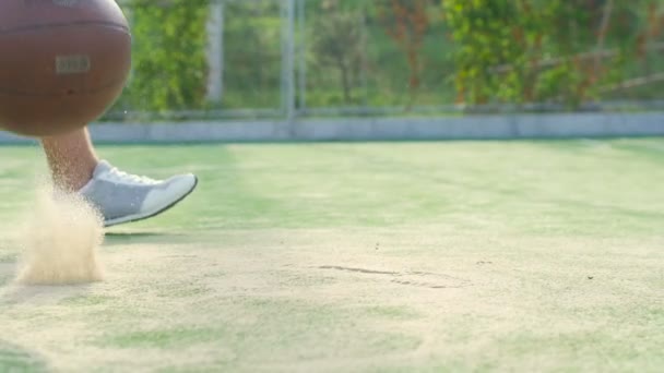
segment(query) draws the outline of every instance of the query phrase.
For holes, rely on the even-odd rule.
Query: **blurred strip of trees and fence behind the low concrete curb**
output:
[[[120,3],[133,72],[108,120],[278,117],[289,94],[298,116],[642,109],[664,98],[664,0]]]

